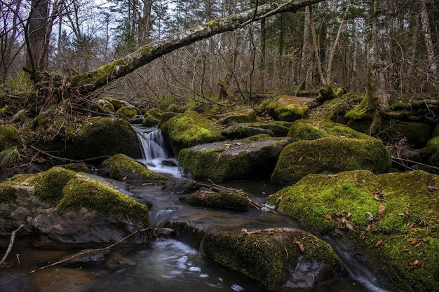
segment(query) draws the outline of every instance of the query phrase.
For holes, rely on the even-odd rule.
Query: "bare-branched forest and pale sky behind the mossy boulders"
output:
[[[265,2],[1,0],[0,84],[36,84],[41,72],[70,78]],[[381,99],[438,97],[437,1],[318,2],[174,50],[101,93],[156,106],[208,100],[226,85],[247,103],[325,84],[365,92],[369,78],[377,92],[386,92]]]

